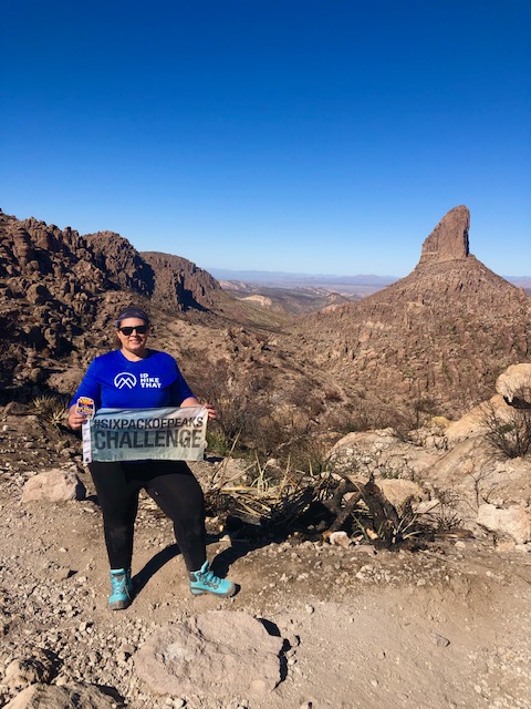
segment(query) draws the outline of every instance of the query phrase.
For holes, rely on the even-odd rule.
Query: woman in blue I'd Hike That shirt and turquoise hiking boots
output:
[[[118,315],[115,328],[121,348],[91,362],[71,401],[69,424],[72,429],[80,429],[85,421],[85,414],[77,412],[80,397],[93,399],[96,411],[201,405],[175,359],[147,347],[147,312],[134,306],[125,308]],[[145,386],[147,381],[148,387]],[[216,418],[215,409],[210,404],[205,407],[208,418]],[[218,578],[209,567],[202,491],[184,461],[92,462],[88,469],[103,512],[111,563],[110,608],[127,608],[133,599],[133,532],[142,489],[174,523],[175,536],[189,573],[190,592],[222,597],[236,593],[232,582]]]

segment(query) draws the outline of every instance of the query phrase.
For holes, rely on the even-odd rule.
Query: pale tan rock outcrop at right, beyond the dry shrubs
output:
[[[500,379],[510,380],[517,367],[510,367]],[[512,545],[528,544],[529,456],[508,458],[492,444],[492,411],[500,425],[509,428],[520,415],[498,394],[458,421],[430,419],[407,438],[394,429],[348,433],[331,449],[330,461],[343,475],[356,471],[354,476],[362,484],[374,476],[395,504],[403,503],[399,495],[405,493],[417,513],[427,512],[441,525],[452,521],[475,534],[487,530]],[[529,422],[527,432],[529,435]],[[421,496],[412,481],[423,490]]]

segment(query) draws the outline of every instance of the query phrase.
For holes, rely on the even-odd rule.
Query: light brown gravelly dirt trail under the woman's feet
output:
[[[489,540],[374,554],[212,537],[209,555],[241,592],[226,602],[194,598],[169,522],[146,506],[135,540],[138,595],[110,613],[97,505],[21,506],[27,475],[11,471],[0,482],[0,681],[13,658],[40,647],[59,658],[60,681],[114,687],[134,709],[531,707],[529,555],[497,551]],[[272,696],[168,699],[136,678],[132,658],[154,625],[227,607],[288,638],[285,678]],[[11,696],[0,688],[0,706]]]

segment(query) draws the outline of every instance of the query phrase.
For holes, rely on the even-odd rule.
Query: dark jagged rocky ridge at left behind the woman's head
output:
[[[0,212],[0,384],[45,386],[58,368],[87,361],[111,343],[122,305],[178,316],[207,310],[216,292],[217,281],[184,258],[142,255],[111,232],[81,236]]]

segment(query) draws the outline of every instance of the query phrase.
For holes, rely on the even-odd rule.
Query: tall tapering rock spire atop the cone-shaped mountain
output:
[[[469,255],[470,212],[464,205],[450,209],[423,244],[419,266],[464,260]]]

